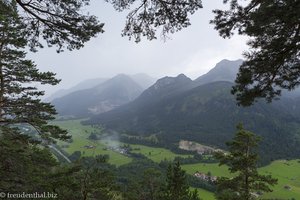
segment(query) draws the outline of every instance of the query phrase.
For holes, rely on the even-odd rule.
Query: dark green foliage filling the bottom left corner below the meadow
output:
[[[107,157],[83,158],[61,166],[47,148],[29,139],[18,129],[0,127],[2,192],[53,192],[62,200],[107,200],[119,195]]]

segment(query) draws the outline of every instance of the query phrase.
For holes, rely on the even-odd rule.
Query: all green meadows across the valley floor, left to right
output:
[[[91,140],[91,133],[104,134],[101,127],[92,127],[90,125],[82,125],[81,120],[64,120],[54,121],[53,124],[67,129],[72,135],[72,142],[58,142],[58,146],[70,156],[76,151],[81,152],[81,156],[96,156],[108,155],[109,163],[117,167],[126,165],[133,161],[133,158],[124,152],[120,152],[122,146],[129,145],[133,153],[139,153],[149,158],[150,160],[160,163],[161,161],[173,161],[175,157],[191,158],[192,154],[177,154],[162,147],[152,147],[141,144],[128,144],[117,141],[116,136],[106,138],[104,140]],[[200,145],[200,144],[199,144]],[[198,146],[198,145],[197,145]],[[227,167],[219,166],[218,163],[194,163],[182,164],[182,168],[190,175],[195,172],[211,173],[212,176],[232,176]],[[272,193],[265,194],[261,198],[279,198],[279,199],[300,199],[300,160],[277,160],[271,164],[259,168],[259,172],[267,175],[272,175],[278,179],[278,185],[272,188]],[[201,188],[199,195],[205,200],[214,200],[212,192]]]

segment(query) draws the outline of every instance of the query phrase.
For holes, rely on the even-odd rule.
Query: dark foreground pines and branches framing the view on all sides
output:
[[[108,1],[118,11],[138,5],[135,1]],[[292,90],[299,85],[300,77],[300,2],[226,0],[229,10],[215,10],[211,21],[222,37],[231,37],[233,31],[251,36],[250,51],[240,68],[236,94],[240,105],[251,105],[257,98],[271,101],[280,95],[280,89]],[[67,140],[65,130],[49,125],[56,114],[52,105],[44,103],[44,94],[32,83],[58,84],[52,72],[40,72],[33,61],[26,59],[26,47],[32,51],[56,46],[80,49],[84,43],[103,32],[104,24],[95,16],[82,14],[89,0],[3,0],[0,2],[0,189],[4,192],[53,191],[60,199],[126,199],[115,185],[113,175],[99,156],[83,158],[79,164],[60,165],[47,146],[55,140]],[[174,33],[190,25],[189,17],[202,8],[200,0],[146,0],[128,15],[123,35],[139,42],[142,36],[156,38],[162,27],[163,35]],[[30,124],[41,140],[22,134],[14,125]],[[220,178],[217,182],[217,199],[254,199],[255,192],[269,192],[276,180],[257,173],[257,154],[252,148],[257,138],[238,127],[229,153],[218,154],[234,178]],[[170,164],[166,171],[166,184],[156,190],[155,171],[147,171],[143,184],[148,184],[142,199],[199,199],[196,191],[190,192],[186,175],[180,164]],[[147,178],[148,177],[148,178]],[[143,185],[142,184],[142,185]],[[126,184],[123,185],[126,187]],[[128,191],[140,189],[127,188]],[[75,191],[75,192],[74,192]],[[129,193],[130,194],[130,193]],[[158,195],[159,197],[153,197]],[[130,199],[130,197],[128,197]]]

